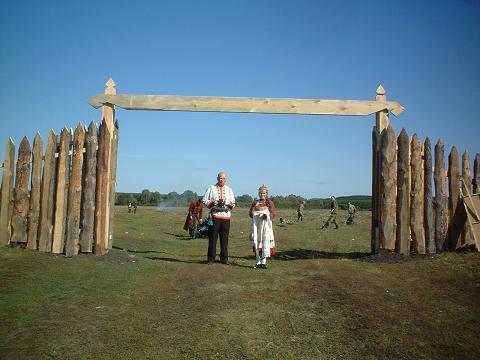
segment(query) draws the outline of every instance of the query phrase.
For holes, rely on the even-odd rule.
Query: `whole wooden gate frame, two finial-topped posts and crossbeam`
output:
[[[240,98],[214,96],[171,96],[171,95],[120,95],[116,93],[115,82],[109,79],[104,94],[95,95],[89,103],[95,108],[102,107],[106,130],[113,133],[115,107],[125,110],[150,111],[192,111],[192,112],[233,112],[264,114],[302,115],[343,115],[367,116],[375,114],[372,157],[372,245],[373,253],[379,249],[379,177],[380,177],[380,134],[389,125],[389,112],[400,115],[404,108],[398,102],[387,101],[385,89],[380,85],[375,101],[368,100],[322,100],[322,99],[275,99]],[[113,140],[113,139],[112,139]],[[108,144],[108,141],[107,141]],[[105,162],[101,194],[111,194],[115,188],[115,174],[110,171],[112,141],[110,146],[99,148],[99,159]],[[112,190],[110,189],[112,188]],[[111,196],[105,195],[96,203],[96,242],[110,244],[112,241]],[[108,248],[103,245],[102,248]]]

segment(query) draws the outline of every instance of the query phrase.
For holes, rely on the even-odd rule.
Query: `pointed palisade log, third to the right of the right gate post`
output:
[[[416,254],[425,254],[425,236],[423,222],[423,164],[422,145],[417,134],[414,134],[410,143],[410,232],[412,236],[412,251]]]

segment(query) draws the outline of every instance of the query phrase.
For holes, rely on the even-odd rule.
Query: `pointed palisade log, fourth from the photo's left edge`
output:
[[[40,225],[38,228],[38,250],[52,251],[53,215],[55,209],[55,183],[57,136],[50,130],[48,134],[45,160],[43,162],[42,191],[40,196]]]

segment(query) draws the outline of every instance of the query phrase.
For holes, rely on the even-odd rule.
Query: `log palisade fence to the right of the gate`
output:
[[[416,134],[409,138],[405,129],[396,137],[390,124],[381,133],[374,127],[373,150],[373,172],[379,174],[372,185],[378,189],[373,192],[372,224],[378,228],[377,238],[372,228],[373,252],[381,248],[403,255],[434,254],[475,245],[461,194],[480,192],[480,154],[475,156],[473,178],[468,152],[460,169],[456,147],[446,170],[441,140],[432,156],[428,138],[423,143]]]

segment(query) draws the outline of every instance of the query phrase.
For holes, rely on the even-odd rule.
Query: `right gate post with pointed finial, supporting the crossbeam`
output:
[[[385,89],[382,85],[379,85],[376,91],[375,100],[378,102],[387,102],[387,96],[385,95]],[[388,110],[382,110],[375,113],[375,130],[373,143],[375,147],[372,156],[372,231],[371,231],[371,251],[377,253],[380,242],[379,234],[379,222],[381,214],[381,202],[380,202],[380,179],[381,179],[381,159],[380,159],[380,146],[381,146],[381,134],[384,129],[390,125],[388,118]]]

